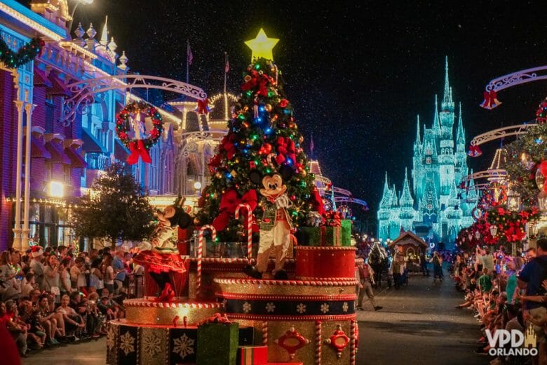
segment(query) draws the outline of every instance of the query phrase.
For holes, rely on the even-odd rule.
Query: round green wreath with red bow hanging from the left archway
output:
[[[136,113],[143,113],[145,118],[152,120],[152,128],[148,131],[148,137],[144,139],[130,138],[131,121]],[[130,165],[136,164],[139,157],[147,164],[151,163],[148,150],[154,146],[163,132],[163,121],[156,107],[147,102],[131,102],[116,115],[116,134],[123,145],[128,147],[131,154],[127,159]]]

